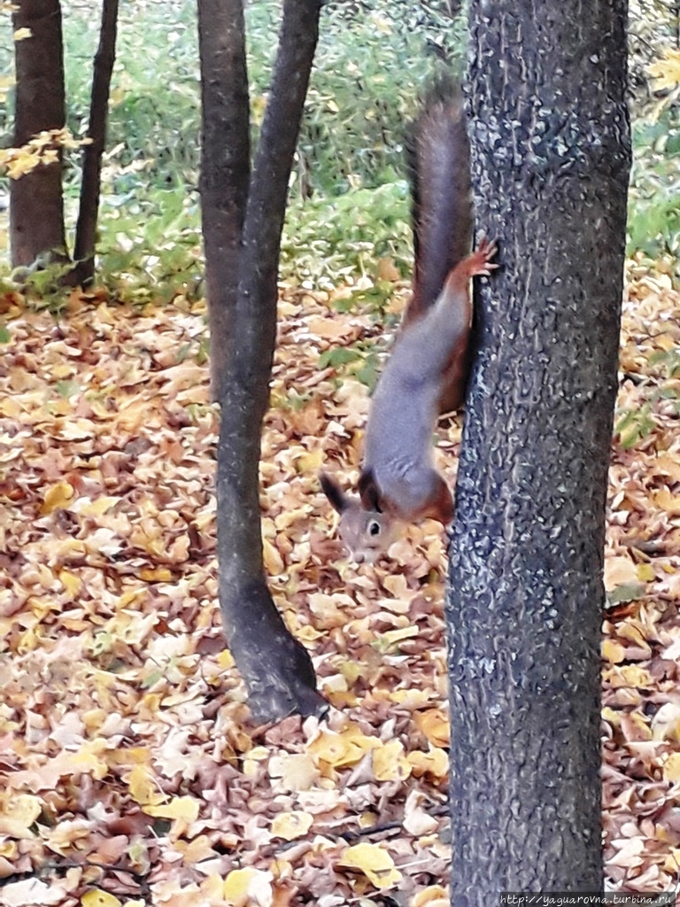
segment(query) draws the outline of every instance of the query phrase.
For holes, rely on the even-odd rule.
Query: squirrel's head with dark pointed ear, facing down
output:
[[[340,514],[340,538],[357,563],[373,563],[394,540],[394,519],[379,510],[377,495],[362,490],[362,500],[345,494],[326,473],[319,473],[321,488],[331,506]],[[361,488],[361,483],[360,483]]]

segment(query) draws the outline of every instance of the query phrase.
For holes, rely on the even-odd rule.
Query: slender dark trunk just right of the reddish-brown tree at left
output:
[[[70,275],[70,282],[83,286],[92,283],[94,278],[100,176],[109,113],[109,91],[116,54],[117,24],[118,0],[103,0],[102,27],[99,33],[99,47],[94,57],[90,126],[87,133],[92,143],[83,146],[83,180],[73,249],[73,258],[77,264]]]

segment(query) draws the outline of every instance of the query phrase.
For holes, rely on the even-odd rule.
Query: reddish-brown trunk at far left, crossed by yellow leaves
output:
[[[31,36],[15,43],[15,147],[37,132],[63,129],[62,11],[59,0],[18,0],[12,16],[15,30]],[[12,267],[31,265],[43,253],[56,250],[65,258],[62,164],[39,166],[10,180],[10,249]]]

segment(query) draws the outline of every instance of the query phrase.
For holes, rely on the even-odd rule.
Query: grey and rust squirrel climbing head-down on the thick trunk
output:
[[[489,276],[496,245],[471,234],[470,151],[460,93],[439,86],[411,149],[415,267],[403,326],[375,387],[359,500],[319,474],[355,561],[372,562],[400,522],[452,521],[452,494],[432,460],[439,414],[458,409],[470,368],[470,278]]]

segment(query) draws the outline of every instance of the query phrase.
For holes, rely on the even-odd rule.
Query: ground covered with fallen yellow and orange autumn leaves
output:
[[[680,867],[680,298],[645,272],[629,296],[607,874],[663,890]],[[355,477],[364,343],[384,346],[371,311],[300,289],[280,303],[267,571],[336,708],[256,728],[220,635],[203,307],[0,307],[0,903],[445,907],[440,532],[412,528],[389,564],[356,568],[316,481],[322,463]],[[452,481],[460,428],[440,434]]]

